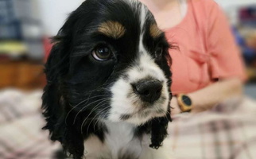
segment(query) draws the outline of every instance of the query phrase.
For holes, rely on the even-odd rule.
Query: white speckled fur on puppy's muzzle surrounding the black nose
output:
[[[126,70],[125,74],[128,76],[128,81],[120,77],[117,82],[111,87],[112,99],[111,99],[111,110],[108,119],[112,122],[119,122],[122,114],[134,114],[132,118],[127,122],[141,125],[147,122],[150,118],[164,116],[169,107],[169,93],[167,80],[161,68],[155,64],[152,57],[142,52],[138,59],[134,62],[133,66]],[[134,93],[131,83],[136,83],[138,80],[146,79],[147,77],[160,80],[163,83],[161,91],[161,98],[164,98],[163,103],[153,104],[147,111],[148,116],[142,118],[141,114],[136,114],[142,106],[141,99]],[[130,96],[129,96],[130,95]],[[165,111],[161,114],[157,114],[156,110]],[[143,113],[143,112],[142,112]]]

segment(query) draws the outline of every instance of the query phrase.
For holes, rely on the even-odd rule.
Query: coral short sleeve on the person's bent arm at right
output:
[[[212,79],[239,77],[246,80],[245,67],[241,53],[235,44],[231,26],[220,7],[208,0],[207,48],[210,54],[210,72]]]

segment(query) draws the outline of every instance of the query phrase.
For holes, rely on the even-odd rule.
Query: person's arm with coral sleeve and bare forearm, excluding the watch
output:
[[[210,109],[215,104],[242,95],[242,83],[246,74],[239,49],[231,34],[227,18],[214,1],[205,1],[209,12],[207,28],[207,51],[210,55],[209,74],[212,80],[219,79],[203,89],[188,93],[192,101],[192,112]],[[176,97],[171,101],[172,114],[180,113]]]

